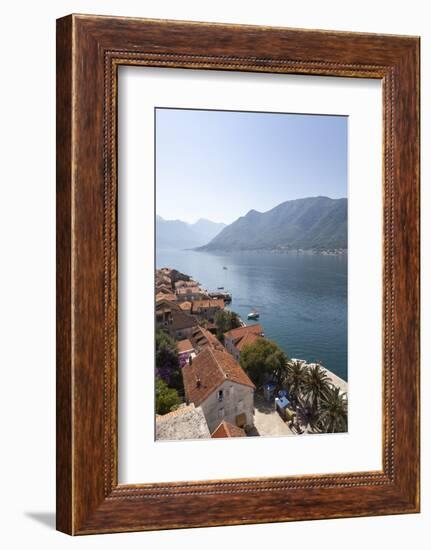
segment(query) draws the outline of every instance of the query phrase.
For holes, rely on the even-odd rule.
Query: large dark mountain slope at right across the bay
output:
[[[250,210],[199,250],[347,248],[347,199],[308,197]]]

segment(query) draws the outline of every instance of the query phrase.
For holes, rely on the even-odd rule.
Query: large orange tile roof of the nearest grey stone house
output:
[[[186,398],[195,406],[205,401],[226,380],[255,389],[253,382],[229,353],[211,346],[206,346],[181,372]]]

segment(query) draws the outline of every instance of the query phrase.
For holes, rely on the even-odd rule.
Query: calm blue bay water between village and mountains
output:
[[[347,380],[347,255],[159,249],[156,266],[178,269],[209,291],[224,287],[229,308],[247,324],[256,309],[265,336],[289,357],[319,360]]]

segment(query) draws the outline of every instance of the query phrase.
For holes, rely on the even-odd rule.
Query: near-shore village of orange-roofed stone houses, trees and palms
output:
[[[156,440],[346,432],[347,382],[288,357],[231,301],[225,289],[156,270]]]

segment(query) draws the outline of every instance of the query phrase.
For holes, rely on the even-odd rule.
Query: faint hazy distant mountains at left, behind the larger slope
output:
[[[156,216],[156,246],[160,249],[196,248],[210,242],[224,227],[224,223],[203,218],[190,224]]]

